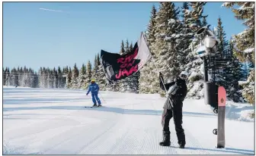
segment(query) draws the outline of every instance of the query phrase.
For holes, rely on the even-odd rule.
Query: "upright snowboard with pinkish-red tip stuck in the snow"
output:
[[[226,90],[223,86],[218,88],[218,129],[217,148],[225,148],[225,111],[226,111]]]

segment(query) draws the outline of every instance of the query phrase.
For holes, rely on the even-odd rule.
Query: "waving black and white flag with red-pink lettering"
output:
[[[133,51],[126,55],[110,53],[101,50],[101,64],[109,83],[125,79],[139,71],[151,58],[149,47],[143,33],[133,47]]]

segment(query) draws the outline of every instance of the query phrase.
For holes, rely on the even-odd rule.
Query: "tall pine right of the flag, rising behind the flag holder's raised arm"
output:
[[[178,20],[178,9],[175,9],[173,2],[161,2],[160,8],[156,17],[156,33],[154,48],[158,53],[155,54],[155,63],[163,73],[165,80],[174,78],[180,72],[179,50],[181,48],[181,29],[182,24]],[[155,73],[155,83],[153,90],[162,92],[159,89],[157,73]],[[154,92],[154,91],[153,91]]]

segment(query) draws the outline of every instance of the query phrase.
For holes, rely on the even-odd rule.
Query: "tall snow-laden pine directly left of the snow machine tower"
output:
[[[203,17],[203,6],[206,5],[206,2],[189,2],[189,6],[191,7],[191,11],[184,11],[187,16],[187,21],[184,21],[184,29],[183,34],[187,34],[184,38],[187,44],[184,48],[184,55],[187,56],[185,58],[184,63],[186,65],[185,69],[188,76],[187,82],[187,97],[188,98],[201,98],[203,97],[203,60],[201,58],[197,58],[190,51],[190,43],[192,39],[201,27],[203,27],[203,23],[201,22]],[[197,42],[199,43],[199,42]],[[188,46],[187,46],[188,45]]]

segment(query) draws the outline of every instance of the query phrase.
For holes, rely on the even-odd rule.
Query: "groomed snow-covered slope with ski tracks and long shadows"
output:
[[[254,154],[253,107],[228,101],[226,148],[218,149],[217,116],[203,100],[184,101],[187,145],[178,148],[173,120],[171,147],[162,147],[165,98],[101,92],[102,108],[91,106],[86,91],[3,89],[3,154]],[[104,98],[104,99],[103,99]]]

